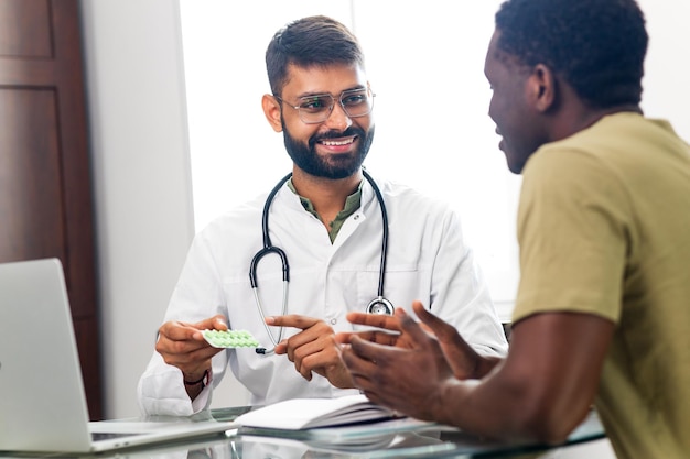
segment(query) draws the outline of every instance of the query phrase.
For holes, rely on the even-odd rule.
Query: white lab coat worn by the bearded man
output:
[[[412,300],[453,324],[483,354],[504,354],[507,342],[487,286],[464,244],[460,220],[450,207],[399,184],[379,185],[389,220],[385,297],[408,312]],[[198,321],[216,314],[231,329],[249,330],[272,348],[249,283],[249,264],[262,248],[261,214],[266,196],[214,220],[194,239],[164,320]],[[323,223],[305,211],[283,186],[269,214],[270,238],[290,263],[288,314],[325,320],[338,331],[352,330],[349,310],[364,310],[377,296],[382,219],[371,186],[365,181],[362,206],[347,218],[331,243]],[[266,315],[280,315],[281,264],[268,255],[258,269],[259,295]],[[274,328],[277,336],[279,329]],[[297,329],[284,329],[284,336]],[[227,370],[251,393],[251,404],[292,397],[331,397],[351,391],[333,387],[314,374],[304,380],[287,356],[258,356],[254,349],[219,352],[212,362],[211,386]],[[211,387],[192,404],[180,370],[153,357],[138,386],[144,414],[191,415],[211,403]]]

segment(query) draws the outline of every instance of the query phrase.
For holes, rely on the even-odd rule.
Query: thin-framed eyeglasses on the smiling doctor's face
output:
[[[369,88],[348,89],[341,92],[338,103],[349,118],[364,117],[371,112],[375,96]],[[297,106],[288,103],[279,96],[273,97],[284,102],[288,107],[295,109],[305,124],[324,122],[331,116],[333,107],[335,107],[335,99],[330,94],[300,97]]]

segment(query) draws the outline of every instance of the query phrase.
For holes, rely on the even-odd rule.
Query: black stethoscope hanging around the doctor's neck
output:
[[[392,303],[384,297],[384,281],[386,278],[386,255],[388,253],[388,212],[386,211],[386,204],[384,203],[384,196],[381,195],[381,190],[378,188],[374,178],[365,171],[362,170],[362,174],[369,182],[371,188],[374,188],[374,193],[376,194],[376,199],[378,200],[379,207],[381,208],[381,217],[384,220],[384,234],[381,237],[381,262],[378,274],[378,295],[376,298],[371,299],[366,307],[366,312],[369,314],[381,314],[391,316],[395,312],[395,307]],[[276,187],[269,193],[266,198],[266,204],[263,205],[263,215],[261,217],[261,231],[263,236],[263,248],[254,255],[251,259],[251,264],[249,265],[249,282],[251,283],[251,289],[254,292],[254,299],[257,304],[257,309],[261,315],[261,321],[263,323],[263,327],[266,327],[266,332],[270,337],[271,342],[273,343],[273,349],[266,348],[257,348],[256,352],[260,354],[271,354],[273,353],[276,346],[282,340],[282,334],[284,327],[280,327],[280,331],[278,332],[278,339],[273,337],[269,326],[266,324],[266,315],[263,314],[263,307],[261,306],[261,298],[259,298],[259,284],[257,283],[257,265],[259,261],[270,254],[274,253],[280,256],[280,261],[282,263],[282,315],[284,316],[288,313],[288,285],[290,283],[290,264],[288,263],[288,255],[285,252],[271,243],[271,238],[268,233],[268,214],[271,208],[271,204],[273,203],[273,198],[276,194],[282,188],[285,182],[288,182],[292,177],[292,173],[285,175]]]

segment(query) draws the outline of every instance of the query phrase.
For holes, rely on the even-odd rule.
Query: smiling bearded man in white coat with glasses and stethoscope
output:
[[[365,310],[381,284],[392,305],[419,299],[477,352],[504,354],[503,328],[455,212],[363,178],[375,92],[356,37],[328,18],[304,18],[273,36],[266,62],[272,94],[262,107],[283,133],[292,176],[270,199],[228,211],[194,239],[139,382],[142,412],[200,412],[228,370],[252,404],[356,393],[334,337],[353,330],[346,314]],[[284,251],[290,282],[285,291],[280,259],[266,256],[256,269],[257,302],[248,272],[265,245],[265,207],[266,233]],[[207,328],[248,330],[274,352],[212,348],[200,331]]]

